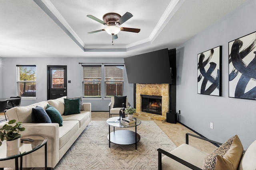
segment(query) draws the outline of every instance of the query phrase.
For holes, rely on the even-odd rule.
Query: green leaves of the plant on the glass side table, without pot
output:
[[[21,127],[21,122],[17,122],[16,125],[12,125],[16,120],[10,120],[8,124],[5,124],[2,128],[0,128],[0,146],[2,145],[2,141],[14,141],[21,137],[19,134],[20,131],[24,131],[25,127]]]

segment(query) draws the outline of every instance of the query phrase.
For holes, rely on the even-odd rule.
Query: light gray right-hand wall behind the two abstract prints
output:
[[[256,101],[228,97],[228,42],[256,31],[256,1],[225,16],[177,48],[180,122],[205,137],[225,142],[238,135],[244,149],[256,140]],[[197,94],[197,55],[222,45],[222,96]],[[210,129],[210,122],[214,129]]]

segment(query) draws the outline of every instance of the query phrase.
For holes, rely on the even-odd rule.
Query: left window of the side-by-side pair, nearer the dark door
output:
[[[101,97],[101,65],[82,65],[83,96]]]

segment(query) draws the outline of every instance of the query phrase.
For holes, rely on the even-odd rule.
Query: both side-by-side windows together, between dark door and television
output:
[[[124,65],[82,65],[84,98],[122,96],[123,91]]]

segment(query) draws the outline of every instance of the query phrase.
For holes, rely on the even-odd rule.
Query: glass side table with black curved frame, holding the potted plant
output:
[[[20,169],[22,169],[22,156],[26,154],[30,154],[41,147],[44,146],[44,162],[45,162],[45,170],[47,169],[47,137],[43,136],[22,136],[21,139],[30,138],[33,139],[33,142],[22,141],[20,140],[20,147],[14,150],[6,149],[6,141],[2,142],[2,146],[0,147],[0,161],[2,160],[10,160],[15,159],[15,170],[18,170],[18,158],[20,157]],[[8,167],[4,167],[8,168]],[[3,168],[0,168],[3,170]]]

